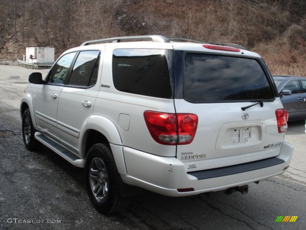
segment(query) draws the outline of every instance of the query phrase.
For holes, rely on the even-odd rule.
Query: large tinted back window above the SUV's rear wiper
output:
[[[192,103],[274,98],[258,61],[229,56],[187,53],[184,89],[185,100]]]

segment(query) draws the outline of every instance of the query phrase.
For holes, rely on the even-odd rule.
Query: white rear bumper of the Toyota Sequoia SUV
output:
[[[187,173],[184,164],[177,158],[160,157],[127,147],[123,151],[127,175],[121,175],[121,178],[125,183],[162,195],[180,197],[225,190],[282,174],[292,159],[293,145],[285,141],[282,143],[274,165],[267,164],[268,167],[252,171],[238,170],[235,174],[223,172],[221,176],[203,179],[194,173]],[[177,189],[181,188],[193,188],[194,191],[178,192]]]

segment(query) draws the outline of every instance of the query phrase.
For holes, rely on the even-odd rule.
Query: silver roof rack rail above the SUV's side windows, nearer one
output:
[[[86,41],[80,46],[89,45],[92,43],[101,43],[101,42],[121,42],[121,40],[152,40],[153,42],[170,42],[168,38],[162,35],[143,35],[143,36],[125,36],[125,37],[111,37],[105,39],[91,40]]]

